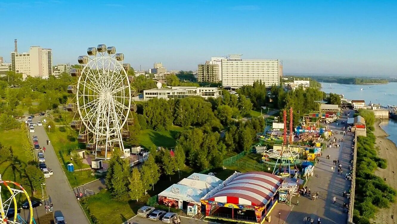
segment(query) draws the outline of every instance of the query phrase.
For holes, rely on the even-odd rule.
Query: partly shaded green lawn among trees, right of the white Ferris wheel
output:
[[[156,146],[162,146],[166,148],[175,147],[176,136],[181,131],[183,131],[183,128],[178,126],[172,126],[166,131],[145,129],[138,137],[138,142],[141,146],[145,146],[145,148],[156,148]]]

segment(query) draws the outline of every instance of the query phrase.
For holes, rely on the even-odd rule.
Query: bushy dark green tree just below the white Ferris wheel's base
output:
[[[114,150],[109,160],[105,183],[111,194],[117,199],[124,200],[128,195],[129,187],[129,164],[120,158],[120,152]]]

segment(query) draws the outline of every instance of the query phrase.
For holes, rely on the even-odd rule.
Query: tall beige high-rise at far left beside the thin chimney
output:
[[[52,75],[52,50],[32,46],[29,53],[11,52],[12,71],[22,73],[24,77],[48,78]]]

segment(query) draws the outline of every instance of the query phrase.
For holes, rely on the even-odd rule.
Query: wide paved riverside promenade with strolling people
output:
[[[349,111],[350,117],[353,117],[354,111]],[[343,114],[344,115],[344,114]],[[341,121],[346,121],[347,117],[342,117],[338,120],[339,125],[332,123],[330,129],[333,131],[341,131]],[[334,134],[332,137],[337,139],[342,138],[344,142],[339,143],[340,148],[328,148],[323,152],[320,158],[320,164],[316,164],[314,169],[314,176],[310,177],[307,187],[312,193],[319,192],[319,197],[316,201],[312,201],[308,197],[294,197],[291,213],[289,214],[285,224],[302,224],[304,216],[314,218],[314,223],[317,223],[317,218],[321,218],[322,224],[342,224],[346,223],[347,213],[343,211],[343,202],[348,203],[347,198],[343,198],[343,191],[348,191],[351,181],[345,180],[345,173],[349,169],[351,160],[351,146],[353,144],[353,135],[349,132],[345,136],[341,134]],[[326,155],[330,155],[329,160]],[[343,175],[338,175],[337,166],[333,165],[333,160],[339,159],[342,164]],[[331,171],[333,166],[333,171]],[[333,204],[332,199],[336,197],[336,204]],[[296,200],[299,200],[299,205],[296,205]]]

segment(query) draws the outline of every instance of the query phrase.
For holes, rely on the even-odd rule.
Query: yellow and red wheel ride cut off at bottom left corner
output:
[[[9,193],[2,193],[0,195],[0,224],[35,224],[32,203],[25,189],[14,181],[2,180],[0,175],[0,192],[3,190],[3,187]],[[29,203],[29,214],[26,220],[19,216],[19,209],[17,207],[17,199],[20,200],[23,197]]]

